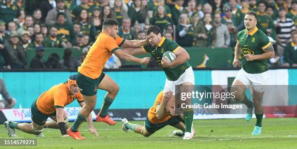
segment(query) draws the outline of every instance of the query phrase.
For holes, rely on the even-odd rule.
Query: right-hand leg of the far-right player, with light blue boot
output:
[[[258,135],[262,132],[262,118],[264,115],[264,108],[262,106],[262,98],[263,98],[264,92],[257,92],[253,90],[253,101],[255,106],[255,115],[257,118],[257,122],[254,128],[254,131],[252,132],[252,135]]]

